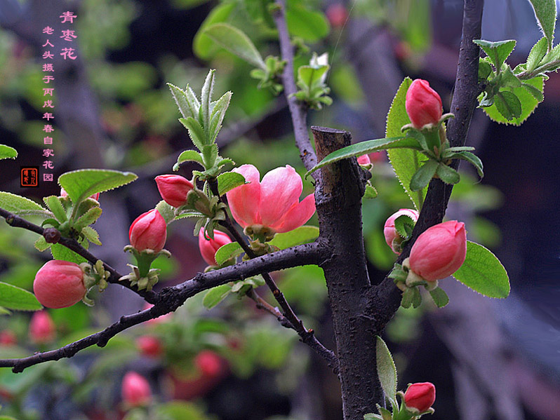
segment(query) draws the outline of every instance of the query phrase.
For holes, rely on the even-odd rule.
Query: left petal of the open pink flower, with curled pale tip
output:
[[[242,227],[260,223],[259,202],[260,202],[260,174],[253,165],[241,165],[233,172],[240,173],[245,177],[246,182],[251,184],[240,185],[228,191],[227,203],[229,210],[237,223]]]

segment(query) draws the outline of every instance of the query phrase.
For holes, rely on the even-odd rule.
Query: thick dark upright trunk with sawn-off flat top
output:
[[[317,157],[350,144],[350,134],[312,127]],[[361,197],[366,172],[356,159],[346,159],[321,170],[315,196],[321,238],[331,257],[321,265],[333,311],[338,349],[342,409],[345,420],[362,420],[380,400],[375,369],[375,332],[366,315],[371,288],[361,231]]]

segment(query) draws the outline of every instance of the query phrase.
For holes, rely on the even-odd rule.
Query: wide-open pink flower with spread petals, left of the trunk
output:
[[[313,194],[299,201],[302,180],[290,165],[267,172],[262,182],[259,182],[259,171],[253,165],[242,165],[234,172],[251,182],[226,194],[234,219],[244,228],[256,224],[277,233],[293,231],[315,212]]]

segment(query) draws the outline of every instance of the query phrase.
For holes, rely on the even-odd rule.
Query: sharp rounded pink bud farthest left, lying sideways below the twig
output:
[[[86,294],[84,272],[75,262],[52,259],[37,271],[33,292],[47,308],[72,306]]]

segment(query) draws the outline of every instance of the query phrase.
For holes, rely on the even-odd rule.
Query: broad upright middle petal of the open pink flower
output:
[[[290,165],[276,168],[262,177],[260,183],[260,220],[265,226],[279,223],[286,212],[297,204],[303,184]]]

